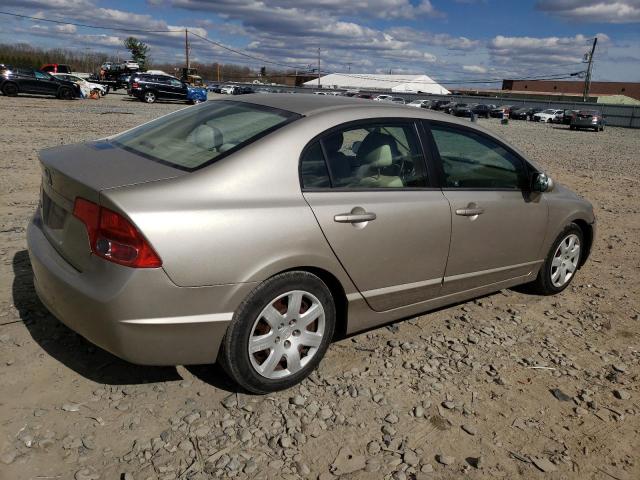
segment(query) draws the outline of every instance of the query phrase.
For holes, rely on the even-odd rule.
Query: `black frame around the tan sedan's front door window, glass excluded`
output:
[[[438,179],[438,185],[439,188],[442,191],[478,191],[478,192],[525,192],[525,193],[529,193],[531,192],[531,182],[532,179],[534,177],[534,175],[536,173],[539,173],[529,162],[527,162],[527,160],[522,157],[522,155],[518,154],[515,150],[513,150],[512,147],[510,147],[509,145],[507,145],[506,143],[504,143],[502,140],[500,140],[499,138],[494,137],[493,135],[488,135],[483,131],[477,130],[475,128],[471,128],[471,127],[466,127],[464,125],[459,125],[457,123],[449,123],[449,122],[443,122],[443,121],[439,121],[439,120],[423,120],[422,121],[423,124],[423,128],[425,130],[425,136],[427,139],[427,142],[429,144],[429,149],[431,150],[431,156],[430,158],[433,159],[433,169],[436,172],[436,178]],[[487,137],[489,140],[491,140],[492,142],[494,142],[495,144],[499,145],[500,147],[504,148],[507,152],[509,152],[510,154],[512,154],[515,158],[517,158],[520,161],[520,165],[522,166],[522,169],[524,171],[524,177],[525,177],[525,184],[520,186],[520,187],[516,187],[516,188],[497,188],[497,187],[447,187],[445,186],[445,178],[444,178],[444,169],[442,167],[442,159],[440,158],[440,151],[438,150],[438,146],[436,144],[435,138],[433,137],[433,133],[431,132],[431,126],[442,126],[444,128],[448,128],[451,130],[457,130],[459,132],[463,132],[463,133],[472,133],[475,135],[484,135],[485,137]]]

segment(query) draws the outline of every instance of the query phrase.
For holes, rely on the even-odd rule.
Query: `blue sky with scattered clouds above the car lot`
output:
[[[568,76],[640,81],[640,0],[2,0],[0,11],[62,22],[176,33],[123,32],[0,14],[0,43],[127,54],[134,35],[159,63],[191,57],[259,69],[427,74],[446,85]],[[0,52],[0,62],[2,53]],[[273,63],[266,63],[266,61]],[[576,77],[573,77],[576,78]],[[487,83],[483,83],[487,82]]]

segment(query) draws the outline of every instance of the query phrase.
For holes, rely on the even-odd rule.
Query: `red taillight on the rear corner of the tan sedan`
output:
[[[87,228],[91,251],[95,255],[127,267],[162,266],[162,260],[147,239],[119,213],[76,198],[73,215]]]

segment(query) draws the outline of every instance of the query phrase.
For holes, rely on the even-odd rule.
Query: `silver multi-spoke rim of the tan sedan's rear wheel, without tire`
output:
[[[322,303],[309,292],[293,290],[273,299],[251,329],[252,367],[269,379],[299,372],[318,352],[325,323]]]

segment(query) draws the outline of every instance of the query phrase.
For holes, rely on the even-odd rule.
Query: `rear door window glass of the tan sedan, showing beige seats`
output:
[[[427,185],[424,158],[412,123],[371,123],[346,127],[323,136],[319,145],[326,174],[333,188],[410,188]],[[307,152],[312,149],[307,149]],[[312,183],[303,155],[304,188],[323,188]]]

